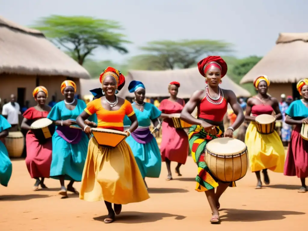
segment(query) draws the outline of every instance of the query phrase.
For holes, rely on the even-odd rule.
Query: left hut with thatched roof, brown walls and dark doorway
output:
[[[71,79],[80,94],[79,79],[89,79],[89,73],[74,59],[48,41],[38,30],[20,26],[0,17],[0,98],[9,101],[17,96],[22,106],[26,100],[35,104],[32,91],[43,85],[51,96],[62,100],[60,85]]]

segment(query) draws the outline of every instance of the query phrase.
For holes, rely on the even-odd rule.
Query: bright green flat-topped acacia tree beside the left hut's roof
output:
[[[123,46],[130,43],[118,22],[85,16],[51,15],[36,22],[40,30],[57,46],[63,47],[80,65],[85,58],[98,48],[113,48],[120,53],[128,53]]]

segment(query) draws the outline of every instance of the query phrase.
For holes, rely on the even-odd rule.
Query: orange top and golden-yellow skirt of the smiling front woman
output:
[[[98,128],[123,131],[124,116],[135,113],[132,105],[125,100],[119,110],[108,111],[101,106],[100,100],[89,102],[85,111],[89,115],[96,113]],[[115,148],[105,148],[94,137],[90,139],[79,198],[121,205],[149,198],[132,150],[125,140]]]

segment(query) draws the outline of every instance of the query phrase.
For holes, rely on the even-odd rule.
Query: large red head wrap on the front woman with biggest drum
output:
[[[208,56],[198,63],[199,72],[204,77],[206,71],[208,71],[211,67],[217,67],[219,70],[221,70],[221,78],[227,74],[227,63],[220,56]]]

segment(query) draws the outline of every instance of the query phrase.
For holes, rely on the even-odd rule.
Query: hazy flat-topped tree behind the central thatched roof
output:
[[[153,41],[140,47],[146,55],[139,55],[135,60],[142,60],[142,68],[166,70],[189,68],[207,55],[221,55],[231,50],[232,44],[215,40],[164,40]]]

